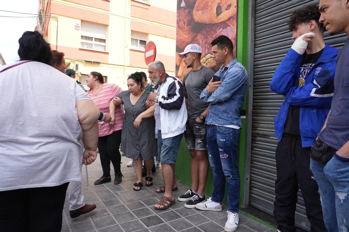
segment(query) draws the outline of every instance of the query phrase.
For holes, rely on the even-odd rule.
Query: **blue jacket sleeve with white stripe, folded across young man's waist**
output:
[[[335,69],[336,59],[327,66],[327,69],[322,70],[312,83],[302,87],[291,87],[285,95],[286,100],[291,105],[331,108]]]

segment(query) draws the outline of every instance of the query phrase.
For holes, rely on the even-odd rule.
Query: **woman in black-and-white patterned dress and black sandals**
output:
[[[141,85],[142,76],[133,73],[127,79],[128,90],[122,91],[113,99],[114,104],[123,104],[125,109],[121,132],[121,151],[127,158],[133,159],[133,167],[137,175],[137,182],[133,186],[135,191],[139,191],[143,186],[142,160],[148,170],[146,185],[153,184],[151,168],[154,157],[157,155],[155,106],[147,109],[145,103],[150,93],[141,88]]]

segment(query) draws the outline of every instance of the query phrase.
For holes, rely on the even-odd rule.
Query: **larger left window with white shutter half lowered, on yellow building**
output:
[[[106,51],[107,26],[81,21],[81,48]]]

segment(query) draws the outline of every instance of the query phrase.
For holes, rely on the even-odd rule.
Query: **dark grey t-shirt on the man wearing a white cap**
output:
[[[206,110],[208,103],[200,100],[200,94],[215,74],[208,67],[188,72],[183,78],[183,86],[188,94],[188,118],[197,118]]]

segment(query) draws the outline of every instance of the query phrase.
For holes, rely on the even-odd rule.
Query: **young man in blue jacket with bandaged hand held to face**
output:
[[[270,89],[285,102],[275,118],[274,216],[278,231],[295,232],[298,185],[302,190],[311,232],[327,231],[318,185],[310,170],[310,152],[330,110],[338,50],[325,44],[324,25],[316,6],[294,11],[289,22],[295,40],[277,67]]]

